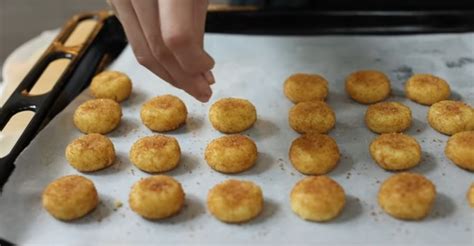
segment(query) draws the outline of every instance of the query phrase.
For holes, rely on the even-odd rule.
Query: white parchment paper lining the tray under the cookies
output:
[[[208,104],[198,103],[140,67],[127,48],[110,67],[133,80],[133,94],[122,103],[120,127],[109,134],[117,151],[116,164],[84,174],[94,181],[101,203],[90,215],[74,222],[52,218],[41,207],[41,192],[52,180],[78,174],[64,157],[66,145],[81,136],[72,123],[75,108],[90,96],[84,92],[60,113],[16,161],[16,170],[0,197],[0,236],[20,244],[315,244],[342,245],[473,245],[473,211],[466,191],[472,173],[446,159],[447,136],[427,124],[428,107],[403,97],[403,83],[412,73],[433,73],[446,78],[454,99],[474,105],[474,35],[267,37],[207,35],[206,47],[216,59],[211,102],[222,97],[252,101],[258,112],[255,126],[246,131],[259,150],[256,166],[237,175],[212,171],[203,160],[206,144],[222,134],[208,119]],[[391,218],[378,207],[380,183],[391,175],[370,158],[368,145],[376,136],[363,123],[366,106],[351,101],[344,92],[344,78],[357,69],[378,69],[391,78],[389,100],[408,105],[413,125],[408,134],[423,149],[422,163],[412,169],[430,178],[438,196],[433,211],[423,221]],[[347,193],[346,207],[336,220],[312,223],[290,209],[289,192],[303,177],[288,160],[288,148],[298,136],[287,122],[293,105],[282,92],[287,76],[295,72],[320,73],[330,81],[327,102],[337,124],[330,132],[340,147],[339,166],[329,175]],[[186,207],[176,217],[152,222],[128,206],[131,185],[149,176],[128,160],[138,138],[153,134],[139,119],[143,102],[171,93],[182,98],[189,110],[186,126],[170,132],[182,148],[182,161],[166,174],[179,180],[186,192]],[[224,224],[206,210],[208,190],[228,178],[252,180],[264,192],[265,207],[255,220],[242,225]],[[123,203],[122,207],[118,203]]]

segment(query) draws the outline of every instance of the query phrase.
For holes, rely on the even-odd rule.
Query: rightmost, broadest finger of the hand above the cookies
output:
[[[202,34],[196,28],[195,0],[158,0],[158,3],[163,42],[181,67],[193,74],[211,70],[214,61],[204,52]]]

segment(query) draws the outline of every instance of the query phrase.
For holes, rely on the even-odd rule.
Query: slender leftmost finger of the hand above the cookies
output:
[[[133,53],[138,62],[163,80],[175,84],[173,77],[151,55],[150,48],[148,47],[130,0],[111,0],[110,2],[122,23],[127,39],[132,46]]]

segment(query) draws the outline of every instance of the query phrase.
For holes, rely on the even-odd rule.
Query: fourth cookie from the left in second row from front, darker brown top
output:
[[[311,133],[298,137],[291,143],[291,164],[307,175],[326,174],[333,170],[340,154],[336,141],[328,135]]]

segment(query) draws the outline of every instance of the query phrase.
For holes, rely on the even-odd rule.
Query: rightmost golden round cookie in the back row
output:
[[[424,105],[443,101],[451,95],[448,83],[431,74],[415,74],[405,83],[405,95]]]

